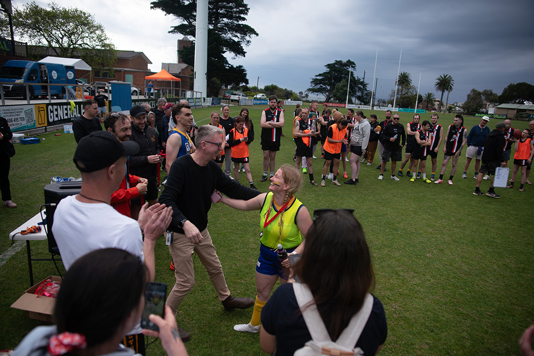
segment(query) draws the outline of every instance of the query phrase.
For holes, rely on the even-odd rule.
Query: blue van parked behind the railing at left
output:
[[[4,96],[26,98],[26,85],[29,85],[29,96],[47,96],[50,85],[50,94],[62,99],[66,93],[65,85],[75,85],[76,78],[74,66],[62,64],[34,62],[26,60],[9,60],[0,68],[0,82],[4,82]],[[5,83],[7,82],[7,84]],[[13,84],[11,84],[13,83]]]

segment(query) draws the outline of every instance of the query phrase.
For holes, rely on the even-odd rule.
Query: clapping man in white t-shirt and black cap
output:
[[[91,132],[78,143],[74,163],[82,175],[82,189],[80,194],[59,202],[52,226],[66,270],[91,251],[114,247],[141,258],[147,266],[149,280],[154,280],[154,246],[169,226],[172,208],[156,204],[146,209],[145,204],[136,221],[109,204],[125,176],[126,156],[138,151],[137,143],[121,143],[107,131]],[[144,354],[144,337],[139,325],[124,338],[124,345]]]

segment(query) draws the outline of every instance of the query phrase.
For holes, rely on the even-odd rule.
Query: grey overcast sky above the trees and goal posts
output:
[[[229,59],[247,69],[249,85],[260,77],[260,87],[277,84],[298,93],[309,88],[325,64],[350,59],[357,76],[366,70],[371,89],[377,46],[378,98],[394,88],[400,50],[400,71],[410,73],[416,86],[421,74],[421,94],[431,91],[439,99],[436,78],[453,77],[449,102],[465,101],[472,88],[500,94],[510,83],[534,84],[532,0],[245,1],[250,7],[247,23],[259,36],[252,38],[245,58]],[[161,70],[161,62],[176,62],[176,41],[183,36],[168,30],[178,22],[151,10],[150,1],[56,2],[92,13],[118,50],[144,52],[154,72]],[[36,3],[45,6],[48,1]]]

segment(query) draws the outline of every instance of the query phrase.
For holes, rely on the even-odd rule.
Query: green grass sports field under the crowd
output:
[[[256,140],[250,145],[250,168],[256,186],[263,192],[268,189],[267,182],[260,182],[263,169],[259,123],[264,108],[249,108],[256,132]],[[194,109],[195,120],[208,123],[213,109]],[[240,107],[231,107],[230,115],[237,115],[239,110]],[[286,107],[288,122],[293,110],[294,107]],[[346,113],[345,109],[341,111]],[[369,116],[372,112],[364,113]],[[384,112],[374,113],[379,120],[384,117]],[[400,113],[400,117],[405,125],[412,114]],[[440,117],[439,123],[446,130],[453,115]],[[422,114],[421,119],[429,120],[430,114]],[[469,130],[479,120],[466,117],[466,128]],[[491,119],[491,129],[496,122]],[[277,154],[277,167],[293,163],[295,146],[290,126],[286,124],[284,128],[286,137]],[[513,122],[513,126],[524,129],[527,123]],[[9,233],[35,215],[44,203],[43,187],[52,176],[80,176],[72,162],[76,147],[72,134],[46,133],[40,137],[45,140],[38,145],[15,145],[17,154],[11,161],[10,178],[13,201],[19,207],[0,209],[0,253],[13,250],[9,248]],[[320,155],[319,148],[316,155]],[[438,170],[442,159],[443,153],[438,156]],[[411,183],[406,176],[397,182],[388,174],[380,181],[373,164],[362,166],[357,186],[336,187],[327,180],[326,187],[305,183],[297,194],[310,213],[318,208],[355,209],[373,256],[374,294],[382,300],[388,321],[388,338],[380,354],[516,355],[523,330],[534,323],[534,188],[526,185],[523,193],[519,192],[519,184],[514,189],[496,188],[501,199],[473,196],[474,162],[468,179],[460,178],[464,163],[465,153],[459,160],[453,186],[425,184],[421,180]],[[319,180],[322,160],[313,160],[313,165]],[[445,177],[450,169],[451,164]],[[350,165],[348,170],[350,176]],[[307,182],[307,176],[303,178]],[[488,187],[489,182],[483,181],[482,190],[485,192]],[[232,295],[254,297],[258,212],[216,204],[209,212],[209,221]],[[32,253],[34,257],[49,257],[46,242],[33,242]],[[168,283],[170,290],[174,274],[169,262],[168,249],[161,239],[156,246],[156,281]],[[248,322],[252,310],[225,312],[205,269],[198,259],[194,264],[196,284],[177,316],[178,325],[191,333],[191,341],[186,343],[189,353],[264,354],[258,334],[232,329],[236,323]],[[53,263],[34,263],[36,281],[50,274],[57,275]],[[26,251],[22,247],[0,267],[0,350],[12,349],[32,328],[44,324],[10,308],[28,286]],[[163,355],[160,342],[150,345],[147,354]]]

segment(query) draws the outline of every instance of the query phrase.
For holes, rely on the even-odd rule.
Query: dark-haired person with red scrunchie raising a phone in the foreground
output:
[[[139,322],[149,280],[143,261],[127,251],[108,248],[82,256],[61,282],[53,312],[56,325],[30,331],[13,355],[133,356],[135,351],[120,343]],[[159,337],[168,355],[186,356],[174,314],[166,308],[164,319],[149,317],[159,331],[143,329],[143,334]]]

